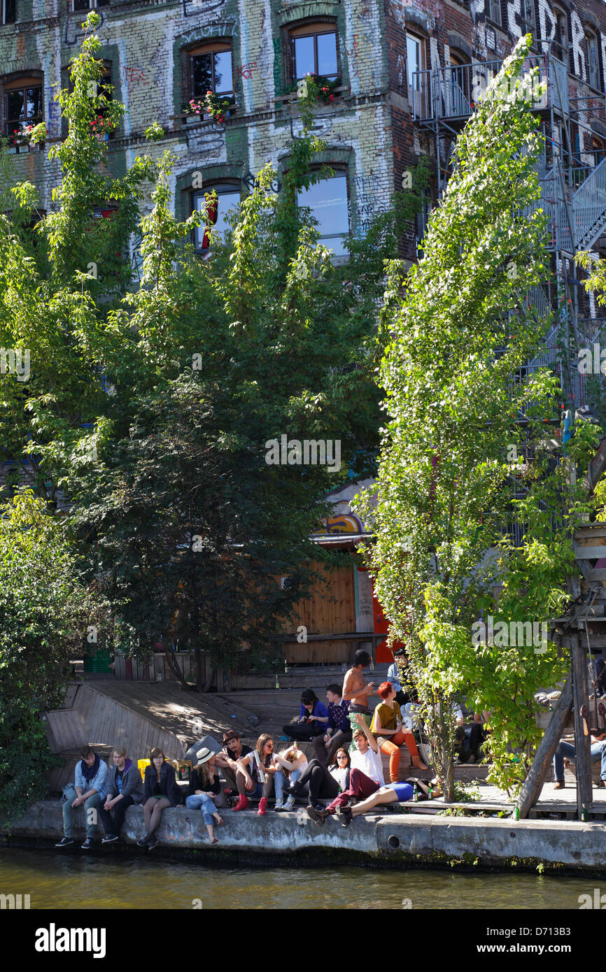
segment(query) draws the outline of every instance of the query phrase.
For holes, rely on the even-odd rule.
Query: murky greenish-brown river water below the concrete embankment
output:
[[[0,894],[31,909],[579,909],[593,878],[370,868],[211,868],[148,856],[0,851]],[[606,901],[606,898],[604,899]]]

